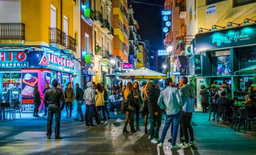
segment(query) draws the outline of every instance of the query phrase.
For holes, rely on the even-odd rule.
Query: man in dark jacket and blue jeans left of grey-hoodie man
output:
[[[75,99],[78,103],[78,114],[80,115],[80,122],[84,122],[84,114],[82,113],[82,104],[83,104],[83,96],[84,96],[84,91],[79,88],[79,84],[76,84],[76,96]]]

